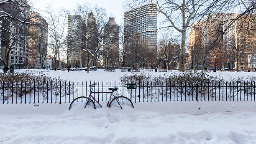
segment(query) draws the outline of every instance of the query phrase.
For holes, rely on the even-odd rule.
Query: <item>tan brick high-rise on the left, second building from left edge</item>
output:
[[[29,68],[46,68],[48,47],[48,23],[36,12],[31,12],[31,23],[38,25],[29,26]]]

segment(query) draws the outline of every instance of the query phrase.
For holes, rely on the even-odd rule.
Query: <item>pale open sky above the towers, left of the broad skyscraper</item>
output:
[[[106,8],[107,13],[112,17],[115,17],[118,25],[123,24],[123,3],[125,0],[30,0],[33,4],[33,8],[38,9],[43,13],[47,5],[52,5],[53,8],[64,7],[67,10],[72,11],[75,6],[84,3],[90,3],[91,5],[98,5],[102,8]],[[43,14],[42,14],[43,15]]]

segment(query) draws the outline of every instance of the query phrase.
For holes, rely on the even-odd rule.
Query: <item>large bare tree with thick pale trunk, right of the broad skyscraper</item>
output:
[[[169,24],[163,25],[162,28],[174,28],[182,35],[180,53],[179,53],[179,71],[185,71],[185,43],[186,43],[186,31],[190,26],[190,22],[196,18],[200,12],[200,8],[207,5],[207,0],[140,0],[139,3],[156,3],[157,9],[154,11],[161,13],[166,22]]]

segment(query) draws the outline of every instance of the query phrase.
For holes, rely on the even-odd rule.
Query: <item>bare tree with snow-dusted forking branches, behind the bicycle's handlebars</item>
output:
[[[99,56],[100,51],[103,51],[103,46],[112,42],[115,38],[109,35],[112,29],[112,25],[108,25],[107,14],[104,8],[95,6],[91,13],[82,11],[81,38],[79,43],[82,50],[88,54],[87,73],[89,73],[92,63],[97,65],[97,56]],[[108,40],[104,41],[105,39]]]

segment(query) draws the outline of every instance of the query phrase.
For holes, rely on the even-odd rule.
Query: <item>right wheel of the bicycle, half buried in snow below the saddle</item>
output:
[[[118,101],[117,101],[117,100]],[[125,106],[131,106],[133,107],[133,103],[131,102],[130,99],[128,99],[127,97],[124,97],[124,96],[118,96],[116,97],[116,99],[112,99],[112,101],[110,101],[109,103],[109,106],[108,107],[111,107],[111,106],[116,106],[116,107],[120,107],[121,106],[121,109],[123,109],[123,107]],[[119,102],[119,104],[118,104]],[[134,108],[134,107],[133,107]]]

